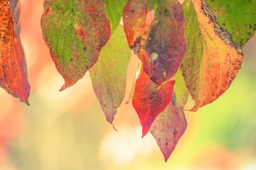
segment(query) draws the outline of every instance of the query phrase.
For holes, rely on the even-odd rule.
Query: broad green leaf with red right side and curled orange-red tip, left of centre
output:
[[[65,80],[61,90],[83,78],[111,35],[102,0],[45,0],[41,26],[52,59]]]

